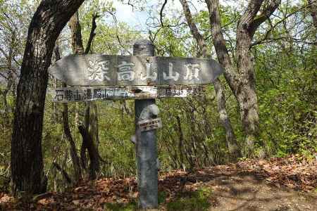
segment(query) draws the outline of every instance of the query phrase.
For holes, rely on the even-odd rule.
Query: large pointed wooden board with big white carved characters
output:
[[[223,73],[216,60],[157,56],[66,56],[49,68],[69,86],[161,86],[210,84]]]

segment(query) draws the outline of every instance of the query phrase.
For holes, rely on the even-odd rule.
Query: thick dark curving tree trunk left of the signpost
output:
[[[13,193],[43,193],[42,123],[55,41],[84,0],[43,0],[32,18],[21,67],[11,141]]]

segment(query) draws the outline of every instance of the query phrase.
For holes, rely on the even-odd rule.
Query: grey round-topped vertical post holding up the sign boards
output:
[[[154,56],[154,44],[149,40],[138,40],[133,45],[134,56]],[[135,135],[137,138],[137,179],[139,208],[158,207],[158,170],[156,165],[156,130],[140,132],[137,122],[149,120],[158,115],[155,99],[135,100]]]

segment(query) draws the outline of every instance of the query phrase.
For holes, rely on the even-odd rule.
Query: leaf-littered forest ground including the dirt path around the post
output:
[[[135,178],[104,178],[31,203],[0,193],[0,210],[128,211],[136,201]],[[317,210],[317,160],[290,156],[161,173],[159,210]]]

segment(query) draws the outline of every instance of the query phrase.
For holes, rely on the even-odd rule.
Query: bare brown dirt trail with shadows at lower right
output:
[[[313,194],[276,187],[252,174],[223,175],[209,182],[213,187],[210,210],[317,210]]]

